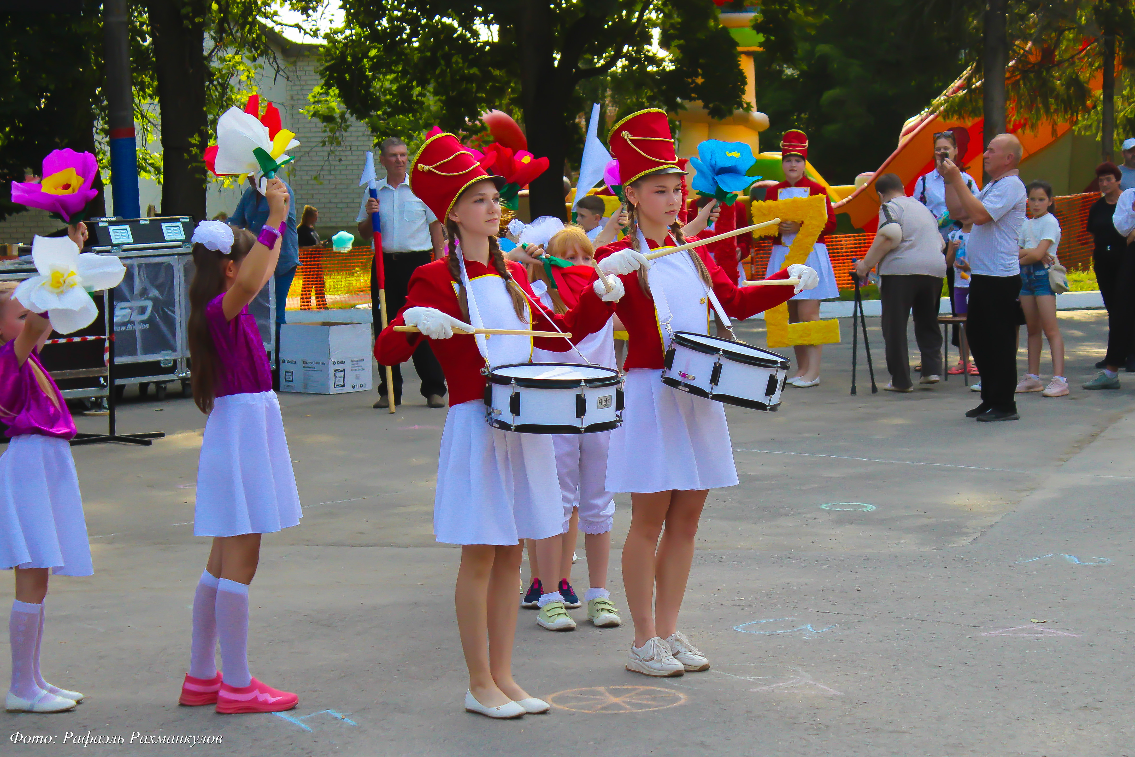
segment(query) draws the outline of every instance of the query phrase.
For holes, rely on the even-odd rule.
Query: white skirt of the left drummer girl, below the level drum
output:
[[[437,464],[435,538],[514,545],[556,536],[562,521],[552,436],[493,428],[480,399],[449,407]]]

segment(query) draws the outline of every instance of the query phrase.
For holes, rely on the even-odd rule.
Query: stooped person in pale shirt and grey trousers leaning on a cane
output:
[[[891,381],[888,392],[913,392],[907,321],[914,311],[915,340],[922,353],[919,384],[938,384],[942,375],[942,333],[938,329],[939,301],[945,277],[945,256],[938,219],[920,202],[902,193],[897,174],[875,180],[878,192],[878,233],[867,254],[856,263],[863,279],[876,264],[882,300],[883,343]]]

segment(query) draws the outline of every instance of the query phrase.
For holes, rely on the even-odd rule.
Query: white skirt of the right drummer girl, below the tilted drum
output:
[[[623,424],[611,432],[608,491],[716,489],[737,485],[725,407],[662,382],[662,370],[631,369]]]

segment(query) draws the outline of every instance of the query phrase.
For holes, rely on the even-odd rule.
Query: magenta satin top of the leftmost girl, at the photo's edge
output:
[[[75,421],[59,396],[59,387],[40,364],[36,352],[33,350],[20,365],[16,360],[15,339],[0,346],[0,420],[8,424],[5,435],[40,434],[70,439],[75,436]],[[35,380],[36,370],[48,379],[53,396],[44,394]]]

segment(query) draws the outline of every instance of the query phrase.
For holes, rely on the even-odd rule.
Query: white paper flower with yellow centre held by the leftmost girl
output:
[[[36,236],[32,241],[32,262],[40,275],[20,281],[12,296],[33,312],[47,312],[51,327],[60,334],[90,326],[99,309],[87,292],[111,289],[126,275],[118,258],[79,254],[66,236]]]

